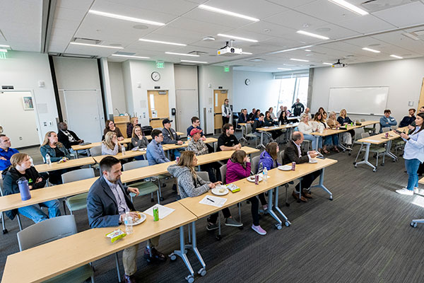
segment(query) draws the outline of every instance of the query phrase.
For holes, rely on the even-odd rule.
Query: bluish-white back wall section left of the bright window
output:
[[[239,112],[242,108],[247,108],[251,112],[252,108],[260,109],[261,112],[273,107],[274,114],[278,112],[278,92],[280,83],[273,79],[272,73],[261,71],[232,71],[232,104],[234,111]],[[250,80],[249,86],[246,79]]]

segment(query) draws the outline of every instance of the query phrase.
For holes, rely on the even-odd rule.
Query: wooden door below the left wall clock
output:
[[[162,121],[170,117],[167,91],[147,91],[148,115],[151,127],[162,128]]]

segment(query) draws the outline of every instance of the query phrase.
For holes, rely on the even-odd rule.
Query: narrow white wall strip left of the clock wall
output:
[[[114,115],[118,115],[115,108],[118,108],[119,112],[125,113],[127,111],[124,78],[122,76],[122,64],[117,62],[108,62],[107,65],[109,67],[110,90]]]

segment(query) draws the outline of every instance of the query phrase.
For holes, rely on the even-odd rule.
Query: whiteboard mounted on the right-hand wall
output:
[[[329,111],[346,109],[349,114],[382,115],[388,94],[388,86],[330,88]]]

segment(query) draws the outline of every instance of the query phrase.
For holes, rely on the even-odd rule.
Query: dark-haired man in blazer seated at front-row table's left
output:
[[[88,222],[91,228],[119,226],[124,222],[126,212],[137,219],[134,204],[129,199],[129,193],[139,195],[136,187],[126,187],[121,182],[121,163],[113,156],[107,156],[100,161],[102,175],[90,187],[87,196]],[[155,249],[158,246],[159,236],[149,240],[144,257],[151,260],[165,261],[165,255]],[[124,282],[136,282],[134,273],[137,270],[137,250],[139,245],[124,249],[122,263],[124,265]]]

